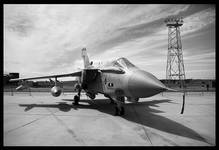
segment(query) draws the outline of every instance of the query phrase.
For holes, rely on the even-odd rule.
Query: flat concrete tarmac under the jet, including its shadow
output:
[[[124,116],[102,95],[4,92],[4,146],[215,146],[215,92],[162,93],[127,103]]]

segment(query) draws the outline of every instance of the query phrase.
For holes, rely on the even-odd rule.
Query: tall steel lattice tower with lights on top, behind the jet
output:
[[[180,26],[183,25],[182,17],[168,17],[164,21],[168,27],[168,54],[166,66],[166,79],[179,80],[180,87],[185,87],[185,70],[183,63],[182,43],[180,37]]]

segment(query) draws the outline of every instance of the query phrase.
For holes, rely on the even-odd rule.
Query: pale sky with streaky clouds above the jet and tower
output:
[[[126,57],[166,78],[168,16],[180,28],[187,79],[215,79],[215,5],[5,4],[4,73],[20,77],[71,73],[83,68],[86,47],[94,65]]]

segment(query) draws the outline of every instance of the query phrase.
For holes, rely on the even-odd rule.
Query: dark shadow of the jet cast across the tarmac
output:
[[[62,99],[63,101],[71,101],[72,99]],[[199,140],[208,143],[203,137],[201,137],[196,131],[176,122],[166,118],[165,116],[157,115],[158,113],[164,113],[163,111],[151,108],[159,107],[160,103],[173,103],[172,100],[151,100],[146,102],[138,103],[127,103],[125,107],[125,115],[122,118],[132,121],[143,126],[154,128],[167,133]],[[87,103],[89,105],[84,105]],[[66,102],[59,102],[58,104],[19,104],[21,107],[26,107],[24,111],[29,111],[34,107],[49,107],[58,108],[60,111],[68,112],[71,109],[96,109],[100,112],[114,115],[115,104],[110,104],[109,99],[95,99],[87,100],[81,99],[79,105],[67,104]]]

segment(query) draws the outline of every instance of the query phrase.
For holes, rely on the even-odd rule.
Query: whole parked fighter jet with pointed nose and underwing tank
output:
[[[19,90],[27,87],[26,80],[48,78],[51,81],[51,78],[55,78],[55,85],[51,88],[51,94],[58,97],[62,93],[62,88],[58,84],[57,78],[77,77],[77,84],[75,85],[77,94],[74,96],[73,105],[79,104],[82,90],[90,99],[95,99],[97,94],[103,94],[116,104],[115,115],[124,115],[125,101],[137,103],[139,98],[146,98],[166,90],[172,90],[154,75],[141,70],[124,57],[108,62],[101,67],[95,67],[89,61],[86,48],[82,49],[81,55],[84,68],[80,71],[68,74],[11,79],[10,81],[21,81],[21,85],[16,88]]]

